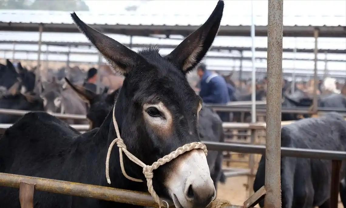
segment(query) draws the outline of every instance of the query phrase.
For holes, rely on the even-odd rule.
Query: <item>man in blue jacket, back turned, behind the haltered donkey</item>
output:
[[[203,63],[198,66],[197,74],[201,79],[199,96],[204,103],[227,104],[230,101],[227,83],[223,77],[208,71]],[[228,112],[218,112],[218,114],[222,121],[229,121]]]

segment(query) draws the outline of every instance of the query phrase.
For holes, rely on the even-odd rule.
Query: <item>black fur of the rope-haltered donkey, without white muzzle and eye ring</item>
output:
[[[197,54],[200,59],[214,40],[223,6],[219,1],[206,24],[193,33],[206,35],[199,43],[203,46],[203,51]],[[201,100],[186,80],[183,66],[161,57],[156,50],[130,51],[85,25],[75,14],[72,17],[98,50],[126,76],[114,113],[121,138],[131,153],[145,164],[152,164],[184,144],[200,141],[197,109]],[[181,59],[179,51],[185,53],[185,46],[180,45],[175,50],[177,59]],[[153,131],[143,116],[144,104],[158,102],[172,114],[172,131],[165,137]],[[104,163],[108,146],[115,138],[112,113],[100,128],[82,135],[49,114],[28,113],[0,139],[0,172],[107,186]],[[162,182],[170,177],[176,161],[179,157],[154,171],[153,185],[162,196],[169,197]],[[142,168],[127,157],[124,157],[124,164],[128,175],[145,181]],[[147,190],[146,183],[127,180],[119,167],[119,151],[113,149],[109,167],[112,187]],[[35,192],[34,200],[35,208],[133,207],[47,192]],[[1,187],[0,204],[7,208],[19,207],[18,190]]]

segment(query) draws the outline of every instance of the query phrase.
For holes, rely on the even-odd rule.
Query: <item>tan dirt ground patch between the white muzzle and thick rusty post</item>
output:
[[[246,183],[247,176],[229,177],[225,184],[219,183],[217,198],[227,200],[233,205],[242,206],[246,200],[247,191],[244,186]],[[338,208],[344,208],[341,202],[339,202]]]

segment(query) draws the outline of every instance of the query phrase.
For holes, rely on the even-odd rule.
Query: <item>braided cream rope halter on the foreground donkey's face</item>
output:
[[[117,138],[114,139],[111,144],[109,145],[108,148],[108,152],[107,152],[107,158],[106,158],[106,179],[107,182],[110,184],[110,178],[109,178],[109,158],[110,158],[110,153],[112,151],[112,148],[114,146],[114,144],[117,144],[118,148],[119,148],[119,159],[120,159],[120,168],[121,168],[121,172],[122,174],[131,181],[136,181],[136,182],[143,182],[143,180],[140,179],[135,179],[129,175],[126,174],[125,172],[125,168],[124,168],[124,161],[122,158],[122,153],[125,153],[125,155],[134,163],[136,163],[137,165],[141,166],[143,168],[143,174],[147,180],[147,187],[148,187],[148,191],[149,193],[152,195],[152,197],[154,198],[155,202],[158,203],[158,205],[161,207],[163,206],[164,201],[161,201],[160,198],[157,196],[154,187],[153,187],[153,171],[156,170],[158,167],[160,167],[161,165],[164,165],[170,161],[172,161],[172,159],[178,157],[181,154],[184,154],[187,151],[191,151],[193,149],[202,149],[204,151],[204,154],[206,154],[207,156],[207,147],[206,145],[204,145],[202,142],[192,142],[189,144],[185,144],[181,147],[178,147],[176,150],[172,151],[170,154],[165,155],[164,157],[158,159],[156,162],[154,162],[152,165],[146,165],[144,164],[142,161],[140,161],[140,159],[138,159],[136,156],[134,156],[133,154],[131,154],[127,148],[126,145],[124,143],[124,140],[121,139],[120,137],[120,132],[119,132],[119,127],[118,127],[118,123],[115,119],[115,106],[113,107],[113,124],[114,124],[114,128],[115,128],[115,132],[117,134]],[[166,202],[167,204],[167,202]],[[168,206],[167,206],[168,207]]]

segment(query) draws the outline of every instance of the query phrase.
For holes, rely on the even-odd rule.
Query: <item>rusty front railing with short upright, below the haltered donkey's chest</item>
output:
[[[98,185],[75,183],[69,181],[60,181],[31,177],[24,175],[15,175],[0,173],[0,186],[19,188],[19,200],[21,205],[33,208],[34,190],[46,191],[51,193],[66,194],[70,196],[87,197],[99,200],[113,201],[119,203],[128,203],[131,205],[147,206],[158,208],[159,205],[154,201],[149,193],[102,187]],[[172,200],[165,200],[169,207],[174,207]],[[23,207],[23,206],[21,206]],[[231,205],[228,202],[219,200],[213,201],[208,208],[243,208],[243,206]]]

